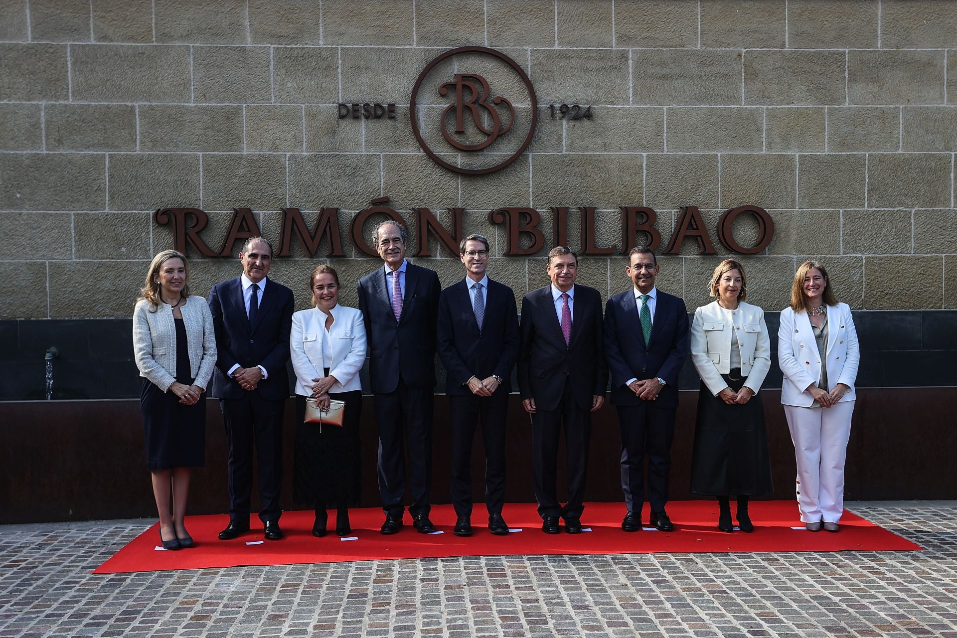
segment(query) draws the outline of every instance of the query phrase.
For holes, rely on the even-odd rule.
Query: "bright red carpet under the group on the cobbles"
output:
[[[200,569],[236,565],[272,565],[308,562],[378,561],[421,559],[448,556],[496,556],[542,554],[649,554],[700,552],[834,552],[840,550],[892,551],[920,550],[922,547],[902,539],[861,517],[845,512],[841,531],[812,533],[801,525],[797,505],[793,501],[752,501],[752,534],[719,532],[718,506],[714,501],[673,501],[668,514],[675,522],[673,533],[641,531],[627,534],[619,525],[624,516],[623,503],[589,503],[582,524],[591,532],[577,536],[550,536],[542,532],[542,520],[534,503],[508,504],[502,515],[513,529],[523,528],[507,537],[492,536],[484,527],[484,508],[477,505],[472,517],[475,535],[453,536],[455,512],[451,505],[436,505],[431,518],[442,534],[417,534],[406,514],[406,526],[395,536],[382,536],[382,510],[367,508],[349,514],[357,540],[340,540],[332,530],[335,513],[329,514],[330,533],[323,539],[312,536],[312,512],[286,512],[282,529],[286,538],[262,541],[262,527],[253,517],[254,529],[238,539],[216,538],[226,526],[226,515],[187,517],[187,528],[195,545],[176,552],[156,550],[159,544],[157,526],[153,525],[98,567],[95,574],[118,572],[161,571],[166,569]],[[643,520],[648,520],[647,506]]]

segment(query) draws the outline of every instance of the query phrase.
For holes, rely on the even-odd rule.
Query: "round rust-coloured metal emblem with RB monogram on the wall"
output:
[[[522,143],[519,144],[518,149],[511,154],[507,154],[507,151],[500,152],[496,149],[503,147],[500,142],[501,140],[507,141],[509,133],[512,133],[514,137],[514,130],[516,130],[514,124],[521,119],[521,116],[516,112],[516,107],[509,99],[494,95],[495,90],[491,87],[489,81],[478,73],[455,73],[452,80],[444,81],[438,86],[436,92],[438,97],[452,98],[451,103],[445,106],[438,118],[441,139],[450,146],[446,152],[480,153],[484,151],[483,156],[492,159],[499,154],[506,156],[504,160],[494,165],[465,167],[451,164],[442,159],[439,153],[425,141],[417,121],[416,100],[419,98],[419,90],[422,88],[423,80],[440,62],[461,54],[494,56],[511,67],[522,79],[524,87],[528,91],[530,101],[528,133]],[[412,121],[412,133],[415,134],[415,139],[422,146],[422,150],[436,164],[454,170],[456,173],[484,175],[515,162],[528,148],[528,144],[531,143],[532,136],[535,134],[535,124],[538,122],[538,100],[535,97],[535,89],[532,88],[531,80],[525,75],[522,67],[511,57],[487,47],[459,47],[436,57],[415,78],[415,84],[412,86],[412,101],[409,104],[409,117]],[[447,126],[449,120],[454,121],[455,124],[452,132],[449,131]]]

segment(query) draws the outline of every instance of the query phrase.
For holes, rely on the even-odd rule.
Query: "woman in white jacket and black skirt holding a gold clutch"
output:
[[[366,324],[362,312],[339,305],[339,275],[322,265],[309,277],[314,307],[293,313],[289,347],[296,371],[296,470],[293,499],[312,506],[313,536],[325,536],[326,505],[335,505],[336,534],[345,536],[349,505],[362,492],[359,415],[366,361]],[[330,399],[345,401],[343,426],[305,423],[305,399],[327,407]]]

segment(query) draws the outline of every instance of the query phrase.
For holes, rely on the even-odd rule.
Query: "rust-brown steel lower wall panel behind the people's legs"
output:
[[[793,498],[794,455],[781,409],[780,391],[764,390],[773,498]],[[957,498],[950,455],[957,430],[948,406],[957,403],[957,388],[862,389],[846,474],[847,499]],[[507,502],[532,502],[531,426],[519,397],[511,397],[508,421]],[[681,392],[672,449],[671,493],[688,493],[697,392]],[[379,505],[377,452],[371,397],[364,398],[363,505]],[[52,520],[155,517],[145,470],[143,428],[136,401],[22,402],[2,405],[0,523]],[[285,482],[282,504],[292,501],[294,403],[286,407]],[[208,406],[206,467],[192,474],[189,514],[226,512],[226,447],[222,415],[215,400]],[[449,502],[448,403],[435,397],[433,453],[434,503]],[[587,500],[621,501],[618,482],[620,436],[613,407],[602,408],[591,426]],[[475,516],[483,517],[484,469],[481,437],[473,453]],[[565,490],[564,448],[559,451],[559,495]],[[407,499],[408,500],[408,499]],[[257,507],[254,489],[253,507]],[[624,506],[622,506],[624,509]],[[507,514],[507,505],[506,505]],[[797,508],[795,505],[795,520]],[[588,512],[586,511],[586,517]],[[225,522],[225,517],[224,517]],[[255,519],[254,519],[255,523]]]

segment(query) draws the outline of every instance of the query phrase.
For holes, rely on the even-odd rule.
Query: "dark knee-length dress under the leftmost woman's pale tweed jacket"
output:
[[[189,376],[189,348],[186,324],[176,322],[176,381],[192,385]],[[184,406],[172,390],[163,392],[143,378],[140,414],[146,447],[146,468],[201,468],[206,464],[206,400]]]

